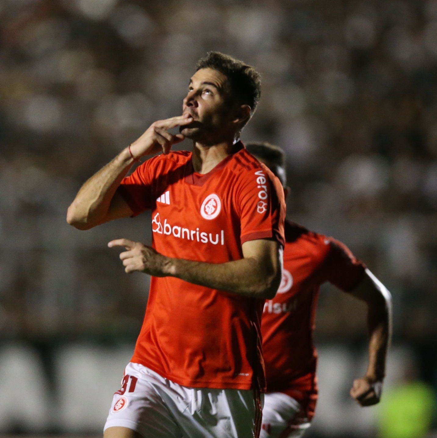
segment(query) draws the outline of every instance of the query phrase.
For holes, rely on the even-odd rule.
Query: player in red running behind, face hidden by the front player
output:
[[[248,143],[247,150],[286,187],[280,148]],[[261,324],[267,376],[262,438],[300,437],[310,426],[317,401],[314,320],[325,281],[367,303],[369,364],[350,394],[361,406],[379,402],[391,333],[390,293],[344,244],[286,220],[282,283],[266,300]]]

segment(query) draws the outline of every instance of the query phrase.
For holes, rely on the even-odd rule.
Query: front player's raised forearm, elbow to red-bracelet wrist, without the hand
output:
[[[88,230],[103,222],[111,200],[134,160],[123,149],[81,187],[67,211],[67,222],[79,230]]]

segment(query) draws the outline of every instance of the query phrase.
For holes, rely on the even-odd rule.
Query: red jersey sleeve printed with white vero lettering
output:
[[[248,240],[273,238],[285,245],[284,190],[267,167],[247,172],[237,190],[236,202],[242,244]]]

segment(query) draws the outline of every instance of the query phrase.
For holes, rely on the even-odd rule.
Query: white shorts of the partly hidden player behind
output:
[[[299,438],[310,423],[301,419],[300,404],[282,392],[264,395],[260,438]]]

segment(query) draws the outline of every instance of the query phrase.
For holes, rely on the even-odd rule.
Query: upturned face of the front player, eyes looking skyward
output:
[[[183,114],[187,113],[193,117],[193,122],[180,127],[185,137],[211,145],[232,138],[237,124],[226,76],[211,68],[198,70],[183,99]]]

